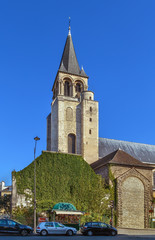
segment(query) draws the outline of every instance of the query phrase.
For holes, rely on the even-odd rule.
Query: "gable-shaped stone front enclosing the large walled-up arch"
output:
[[[112,167],[113,170],[115,167]],[[143,172],[145,170],[143,169]],[[148,175],[146,170],[145,175]],[[150,170],[150,173],[152,171]],[[139,168],[130,168],[117,177],[117,213],[119,227],[148,228],[152,183]]]

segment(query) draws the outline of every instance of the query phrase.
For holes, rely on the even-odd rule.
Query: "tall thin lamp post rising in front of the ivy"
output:
[[[37,141],[40,140],[39,137],[35,137],[35,146],[34,146],[34,233],[36,233],[36,147]]]

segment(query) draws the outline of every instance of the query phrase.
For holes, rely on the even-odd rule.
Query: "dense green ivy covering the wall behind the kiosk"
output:
[[[13,172],[18,194],[34,191],[34,162]],[[77,210],[103,215],[110,190],[81,156],[43,152],[36,158],[37,210],[46,211],[58,202],[72,203]],[[33,196],[32,196],[33,197]],[[104,204],[102,203],[104,202]]]

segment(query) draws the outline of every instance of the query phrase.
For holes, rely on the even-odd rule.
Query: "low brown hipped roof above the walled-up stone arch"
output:
[[[136,158],[132,157],[130,154],[118,149],[107,156],[97,160],[96,162],[91,164],[93,169],[101,167],[105,164],[119,164],[119,165],[128,165],[128,166],[136,166],[136,167],[151,167],[146,163],[142,163],[141,161],[137,160]]]

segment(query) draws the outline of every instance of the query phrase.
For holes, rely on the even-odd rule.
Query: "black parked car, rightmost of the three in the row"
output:
[[[86,222],[81,227],[83,235],[117,235],[117,229],[103,222]]]

